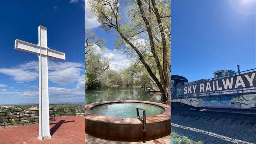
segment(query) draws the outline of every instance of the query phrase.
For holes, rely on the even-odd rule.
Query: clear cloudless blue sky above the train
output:
[[[255,0],[172,0],[171,75],[194,81],[256,68]]]

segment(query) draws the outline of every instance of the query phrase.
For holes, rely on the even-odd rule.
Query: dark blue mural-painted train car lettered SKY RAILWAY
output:
[[[214,71],[214,78],[188,82],[183,76],[171,76],[171,107],[188,108],[256,108],[256,69]]]

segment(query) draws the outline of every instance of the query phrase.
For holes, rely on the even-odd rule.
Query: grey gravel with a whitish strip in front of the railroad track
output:
[[[203,144],[256,144],[256,124],[247,126],[247,122],[238,126],[236,122],[207,121],[171,115],[171,131],[186,136],[194,142]]]

